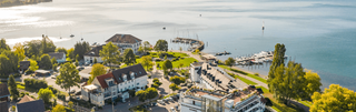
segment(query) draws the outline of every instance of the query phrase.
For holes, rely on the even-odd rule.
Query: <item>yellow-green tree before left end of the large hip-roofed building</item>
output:
[[[109,42],[108,44],[102,47],[102,50],[100,51],[100,57],[102,58],[102,61],[105,63],[110,64],[110,69],[112,70],[111,63],[119,64],[119,55],[120,51],[118,50],[118,47],[112,44],[112,42]]]

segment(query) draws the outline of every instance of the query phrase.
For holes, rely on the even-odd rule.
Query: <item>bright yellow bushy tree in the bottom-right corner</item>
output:
[[[330,84],[324,93],[312,96],[310,112],[356,112],[356,92],[338,84]]]

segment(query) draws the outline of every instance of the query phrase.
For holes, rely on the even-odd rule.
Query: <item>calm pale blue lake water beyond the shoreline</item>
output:
[[[284,43],[287,55],[319,73],[323,88],[337,83],[356,90],[355,12],[355,0],[53,0],[0,8],[0,38],[13,45],[48,34],[65,48],[81,37],[103,43],[115,33],[151,43],[198,38],[207,43],[204,52],[233,53],[221,60]],[[178,47],[187,48],[169,49]],[[268,68],[253,71],[267,74]]]

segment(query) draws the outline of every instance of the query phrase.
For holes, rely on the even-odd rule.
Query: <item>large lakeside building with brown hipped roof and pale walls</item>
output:
[[[134,53],[137,53],[140,44],[140,39],[131,35],[131,34],[115,34],[110,39],[105,42],[112,42],[113,44],[119,47],[119,51],[123,52],[126,49],[132,49]]]

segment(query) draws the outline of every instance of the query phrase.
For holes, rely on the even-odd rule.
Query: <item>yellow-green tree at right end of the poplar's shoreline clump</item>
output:
[[[304,75],[306,79],[305,83],[305,92],[306,92],[306,99],[309,99],[314,92],[322,92],[320,86],[320,78],[316,72],[312,72],[310,70],[307,70],[306,74]]]

